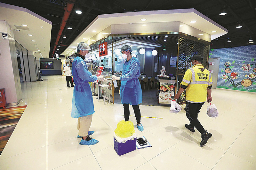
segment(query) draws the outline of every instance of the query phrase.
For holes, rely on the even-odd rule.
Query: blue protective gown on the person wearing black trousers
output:
[[[120,77],[120,95],[123,104],[138,105],[142,103],[142,91],[140,81],[140,63],[137,58],[132,57],[125,61],[123,73]]]

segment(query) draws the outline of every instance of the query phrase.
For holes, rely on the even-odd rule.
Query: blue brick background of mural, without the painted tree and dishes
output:
[[[212,54],[211,54],[212,53]],[[231,70],[232,72],[239,73],[239,77],[237,79],[234,79],[234,83],[240,83],[243,79],[248,78],[245,77],[246,75],[249,75],[253,72],[253,68],[256,68],[255,65],[251,65],[251,69],[249,71],[243,71],[242,65],[243,64],[255,64],[256,63],[256,45],[251,46],[242,46],[242,47],[234,47],[234,48],[219,48],[214,49],[213,51],[210,50],[210,56],[211,57],[220,57],[220,67],[219,67],[219,74],[218,74],[218,80],[217,80],[217,87],[220,88],[226,88],[226,89],[234,89],[234,90],[242,90],[242,91],[250,91],[250,92],[256,92],[256,83],[252,84],[249,87],[243,87],[241,84],[238,85],[236,88],[233,86],[230,86],[231,83],[229,81],[223,80],[221,78],[222,75],[225,74],[225,68],[224,65],[226,62],[234,62],[234,64],[231,64],[231,66],[234,66]],[[253,63],[251,60],[252,58],[255,59],[255,63]],[[223,69],[221,71],[221,69]],[[256,73],[255,73],[256,74]],[[230,74],[228,74],[230,76]],[[252,80],[252,81],[255,81]]]

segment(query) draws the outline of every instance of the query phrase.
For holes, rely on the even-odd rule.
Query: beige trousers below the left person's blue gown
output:
[[[91,124],[92,124],[92,115],[78,117],[77,119],[77,130],[79,130],[78,135],[81,137],[87,136]]]

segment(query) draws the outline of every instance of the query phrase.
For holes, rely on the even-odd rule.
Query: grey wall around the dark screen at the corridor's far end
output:
[[[40,65],[38,66],[42,71],[43,75],[61,75],[61,61],[52,58],[40,58],[40,61],[52,61],[53,69],[41,69]]]

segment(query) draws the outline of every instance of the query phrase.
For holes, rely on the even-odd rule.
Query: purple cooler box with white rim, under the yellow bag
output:
[[[117,155],[124,155],[125,153],[136,150],[136,139],[136,133],[126,138],[118,137],[114,133],[114,149]]]

